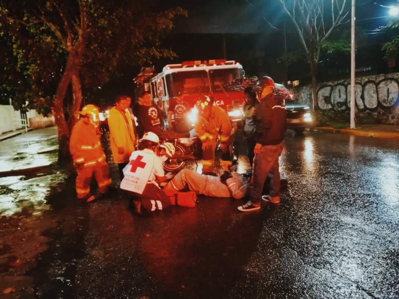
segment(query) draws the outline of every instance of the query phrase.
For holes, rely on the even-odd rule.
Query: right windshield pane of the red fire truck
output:
[[[243,78],[241,69],[217,69],[209,70],[210,84],[213,92],[232,91],[237,79]]]

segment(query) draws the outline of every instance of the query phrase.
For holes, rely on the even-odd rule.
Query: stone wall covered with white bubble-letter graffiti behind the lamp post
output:
[[[295,90],[296,99],[312,103],[312,90],[305,86]],[[351,107],[350,79],[320,83],[321,111],[347,113]],[[399,124],[399,73],[356,78],[357,118],[381,124]]]

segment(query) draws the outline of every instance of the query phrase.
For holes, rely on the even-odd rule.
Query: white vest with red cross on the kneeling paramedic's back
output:
[[[129,158],[129,164],[123,168],[124,178],[121,189],[143,194],[154,166],[155,152],[136,150]]]

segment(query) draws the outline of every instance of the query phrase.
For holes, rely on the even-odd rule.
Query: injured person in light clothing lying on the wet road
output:
[[[197,194],[212,197],[234,197],[241,199],[247,191],[246,179],[237,172],[225,171],[221,176],[199,174],[196,170],[185,168],[169,181],[164,191],[169,196],[188,187]]]

